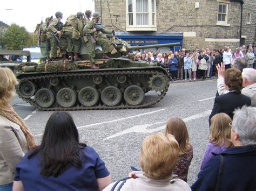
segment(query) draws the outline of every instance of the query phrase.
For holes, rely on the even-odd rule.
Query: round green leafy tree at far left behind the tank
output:
[[[24,26],[11,24],[4,32],[3,45],[5,49],[21,50],[28,45],[29,32]]]

